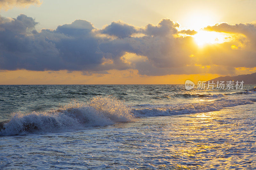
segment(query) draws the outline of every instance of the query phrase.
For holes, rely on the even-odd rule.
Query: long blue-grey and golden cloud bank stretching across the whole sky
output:
[[[1,2],[1,1],[0,1]],[[255,24],[208,26],[205,30],[236,34],[232,40],[200,49],[179,24],[162,19],[136,27],[114,21],[102,29],[86,20],[37,32],[33,18],[0,17],[0,70],[69,70],[108,73],[138,70],[140,75],[232,74],[256,67]],[[187,36],[180,36],[182,33]]]

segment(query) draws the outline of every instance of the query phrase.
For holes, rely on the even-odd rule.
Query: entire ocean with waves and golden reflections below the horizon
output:
[[[256,91],[0,85],[0,169],[256,169]]]

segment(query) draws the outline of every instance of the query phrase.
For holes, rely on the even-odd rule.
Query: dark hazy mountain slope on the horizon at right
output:
[[[256,84],[256,73],[252,73],[252,74],[243,74],[243,75],[238,75],[238,76],[225,76],[225,77],[218,77],[218,78],[214,78],[209,80],[210,83],[213,81],[214,83],[216,83],[217,81],[232,81],[234,80],[241,82],[242,80],[244,81],[244,84]],[[207,81],[208,83],[208,81]]]

